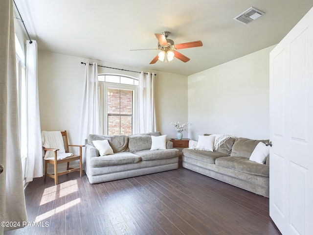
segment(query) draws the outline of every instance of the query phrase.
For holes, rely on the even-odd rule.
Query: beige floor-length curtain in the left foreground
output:
[[[18,136],[13,0],[0,0],[0,221],[27,221]],[[16,229],[3,228],[3,231]]]

